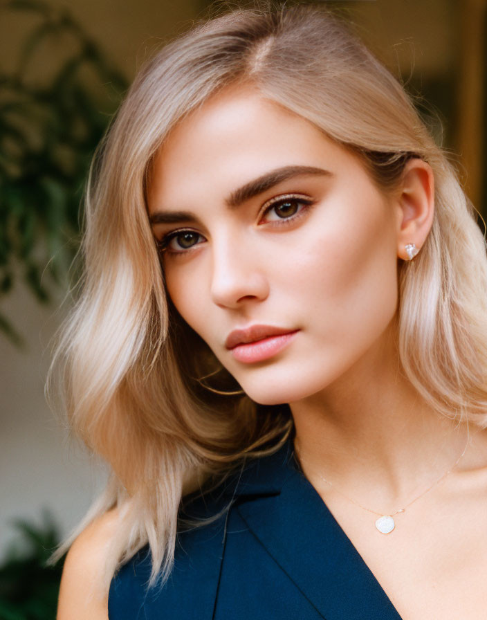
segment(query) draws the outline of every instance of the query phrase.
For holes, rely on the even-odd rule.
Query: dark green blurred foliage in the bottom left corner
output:
[[[46,561],[59,543],[53,519],[44,513],[42,526],[15,521],[21,538],[0,565],[1,620],[54,620],[64,560]]]

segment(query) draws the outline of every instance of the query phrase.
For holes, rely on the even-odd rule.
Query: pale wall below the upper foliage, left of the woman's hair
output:
[[[60,298],[56,300],[60,302]],[[104,479],[54,419],[44,401],[48,340],[59,322],[24,286],[2,304],[28,342],[20,351],[0,338],[0,558],[14,530],[10,520],[40,521],[50,509],[64,531],[75,525]]]

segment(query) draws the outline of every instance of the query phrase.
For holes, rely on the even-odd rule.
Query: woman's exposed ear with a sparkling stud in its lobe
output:
[[[410,159],[404,167],[396,193],[397,255],[410,260],[407,244],[419,251],[428,237],[434,215],[434,176],[431,166],[420,158]]]

